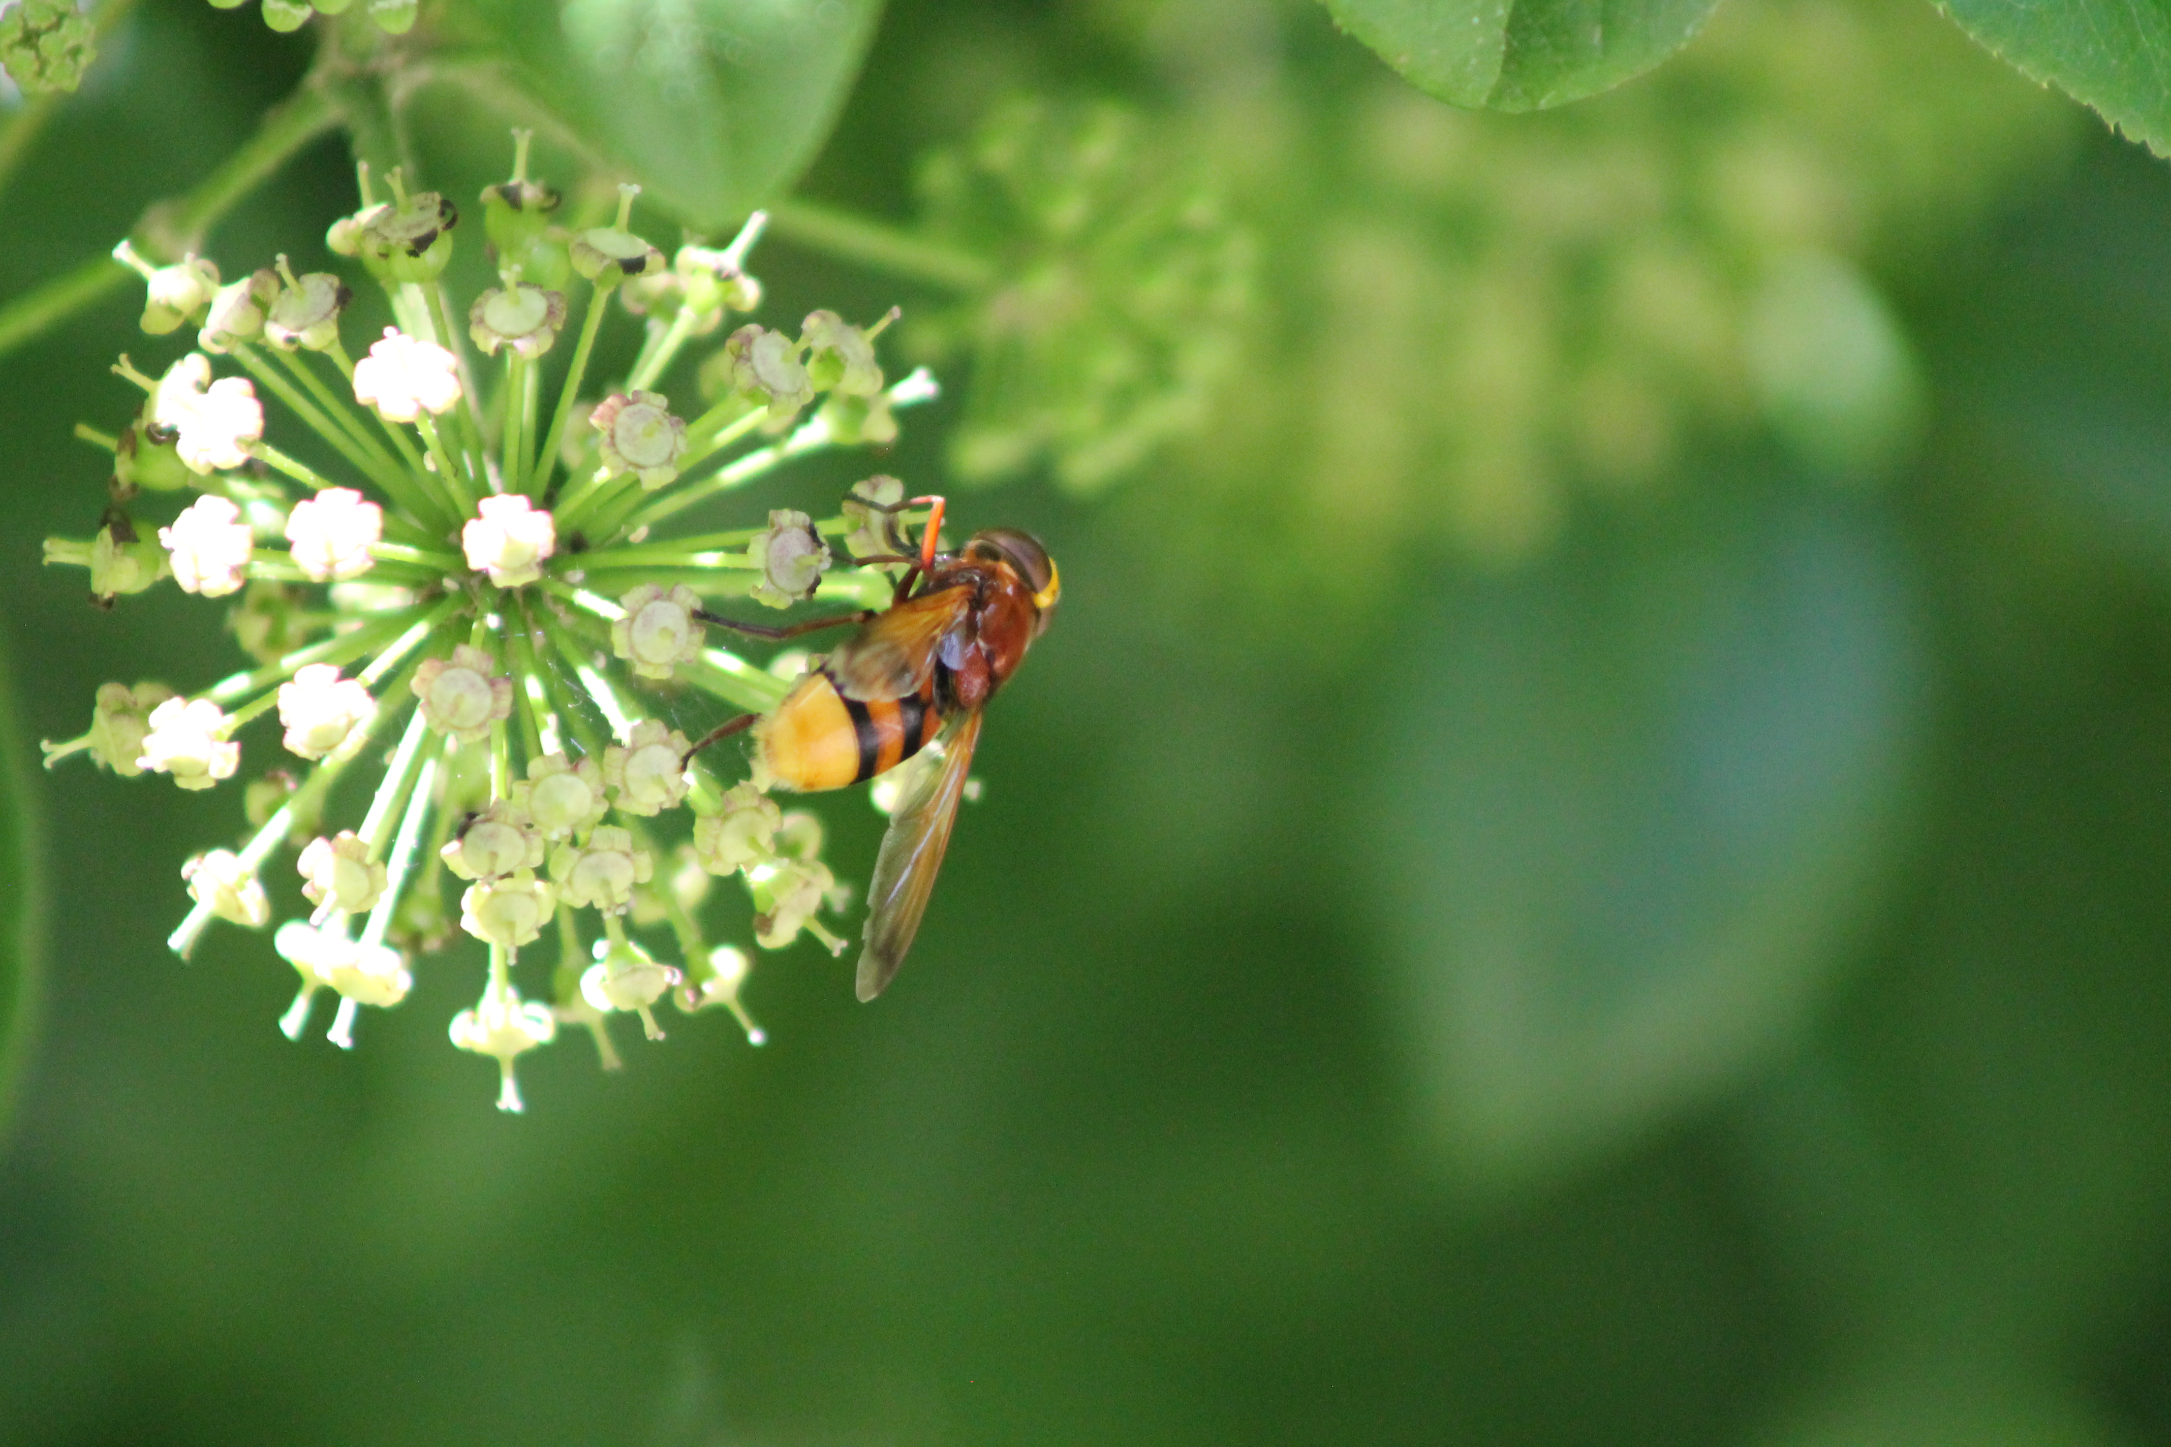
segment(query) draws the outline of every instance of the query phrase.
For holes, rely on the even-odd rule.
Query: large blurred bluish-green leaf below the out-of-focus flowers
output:
[[[1869,516],[1607,532],[1389,649],[1394,1015],[1463,1180],[1624,1143],[1787,1046],[1906,816],[1919,640]]]

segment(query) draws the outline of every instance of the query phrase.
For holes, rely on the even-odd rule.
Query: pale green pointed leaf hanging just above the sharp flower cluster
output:
[[[688,221],[784,191],[845,104],[881,0],[486,0],[515,82]]]

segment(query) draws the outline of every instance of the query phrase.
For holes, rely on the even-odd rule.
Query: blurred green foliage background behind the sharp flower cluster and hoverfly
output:
[[[0,297],[306,61],[145,0]],[[350,195],[326,141],[213,249]],[[897,989],[799,946],[766,1048],[571,1039],[525,1117],[445,1043],[480,959],[293,1046],[267,942],[163,948],[232,792],[33,772],[234,653],[37,562],[137,297],[0,360],[0,1440],[2171,1443],[2162,163],[1900,0],[1528,117],[1296,2],[897,0],[801,195],[1064,302],[758,258],[905,306],[953,386],[884,466],[1062,616]]]

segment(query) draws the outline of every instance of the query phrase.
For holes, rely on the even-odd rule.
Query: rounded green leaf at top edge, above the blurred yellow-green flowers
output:
[[[1322,0],[1405,80],[1485,111],[1613,89],[1687,46],[1717,0]]]

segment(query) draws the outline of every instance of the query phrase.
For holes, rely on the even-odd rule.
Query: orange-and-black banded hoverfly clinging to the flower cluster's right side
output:
[[[897,534],[897,514],[907,508],[929,508],[916,549]],[[847,625],[858,631],[814,660],[775,712],[716,725],[686,755],[751,727],[766,772],[786,787],[812,792],[864,783],[940,740],[942,766],[925,770],[897,803],[875,857],[860,1000],[879,996],[905,963],[973,768],[981,707],[1016,673],[1062,597],[1055,562],[1031,534],[990,527],[973,534],[964,551],[938,553],[940,497],[912,497],[881,510],[890,514],[886,532],[897,551],[853,562],[907,564],[884,612],[788,627],[699,614],[706,623],[771,640]]]

